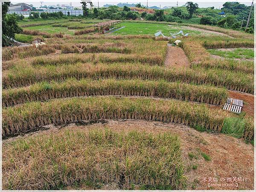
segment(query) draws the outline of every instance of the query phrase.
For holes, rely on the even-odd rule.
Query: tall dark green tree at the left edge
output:
[[[22,32],[17,24],[16,15],[7,15],[10,2],[2,2],[2,46],[6,47],[12,44],[11,38],[14,39],[15,33]]]

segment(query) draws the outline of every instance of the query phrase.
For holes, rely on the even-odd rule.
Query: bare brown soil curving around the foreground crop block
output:
[[[32,137],[40,134],[54,134],[65,129],[89,131],[95,128],[110,128],[115,131],[137,130],[155,134],[171,132],[177,134],[181,139],[182,157],[185,165],[184,171],[188,184],[187,189],[253,189],[253,145],[246,144],[241,139],[224,134],[201,133],[193,128],[174,123],[147,122],[143,120],[108,120],[81,126],[70,124],[66,127],[54,127],[52,125],[49,125],[49,127],[49,130],[33,133]],[[15,138],[5,140],[3,145],[12,140],[15,140]],[[202,152],[209,155],[211,160],[206,161],[201,155]],[[190,153],[195,154],[196,158],[189,157]],[[196,169],[192,169],[194,165],[197,165]],[[227,182],[227,177],[244,177],[247,178],[247,181],[238,182],[238,187],[235,185],[210,188],[208,181],[204,182],[204,178],[208,180],[209,177],[218,178],[218,183],[221,184],[230,183]],[[226,180],[221,182],[221,178]]]

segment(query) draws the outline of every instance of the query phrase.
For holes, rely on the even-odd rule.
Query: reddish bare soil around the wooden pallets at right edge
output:
[[[241,93],[238,91],[228,91],[228,95],[234,99],[240,99],[244,101],[242,111],[246,113],[246,116],[254,116],[254,96],[249,93]]]

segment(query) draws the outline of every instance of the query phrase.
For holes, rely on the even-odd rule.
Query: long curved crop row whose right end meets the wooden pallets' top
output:
[[[119,81],[115,79],[99,81],[69,79],[64,83],[43,82],[19,89],[3,90],[2,102],[3,107],[8,107],[32,101],[97,95],[155,96],[220,105],[227,99],[227,90],[209,86],[139,79]]]

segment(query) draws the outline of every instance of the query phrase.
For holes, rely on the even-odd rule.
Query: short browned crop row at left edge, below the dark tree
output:
[[[28,58],[39,55],[47,55],[55,52],[55,49],[48,45],[41,45],[36,48],[35,46],[27,47],[13,47],[10,49],[3,49],[2,60],[9,61],[14,58]]]

